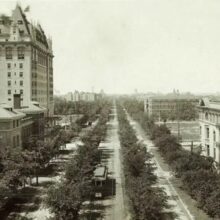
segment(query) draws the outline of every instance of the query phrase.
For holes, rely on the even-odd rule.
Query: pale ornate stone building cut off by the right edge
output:
[[[202,99],[198,106],[202,152],[220,162],[220,101]]]

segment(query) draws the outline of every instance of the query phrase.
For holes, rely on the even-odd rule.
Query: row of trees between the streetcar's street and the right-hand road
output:
[[[130,201],[132,219],[165,219],[168,208],[167,196],[162,188],[155,186],[157,177],[151,163],[152,156],[138,142],[122,106],[117,105],[119,138],[122,147],[125,189]],[[170,213],[172,218],[172,213]]]

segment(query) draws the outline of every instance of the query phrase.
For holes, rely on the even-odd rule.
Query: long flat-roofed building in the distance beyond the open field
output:
[[[198,99],[181,96],[152,96],[144,100],[144,111],[155,119],[169,116],[171,113],[177,113],[179,106],[191,103],[196,106]]]

